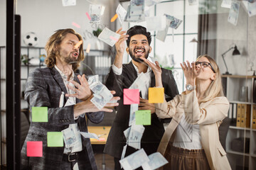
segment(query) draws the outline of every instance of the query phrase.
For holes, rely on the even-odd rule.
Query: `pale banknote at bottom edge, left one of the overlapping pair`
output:
[[[149,162],[149,157],[147,157],[144,149],[139,149],[137,152],[121,159],[119,162],[124,170],[132,170],[139,168],[144,162]]]

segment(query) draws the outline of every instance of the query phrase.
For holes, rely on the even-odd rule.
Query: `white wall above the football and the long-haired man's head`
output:
[[[112,1],[100,1],[106,7],[100,23],[108,28],[110,28]],[[85,30],[92,33],[94,28],[85,15],[89,11],[90,3],[85,0],[77,0],[76,6],[63,6],[61,0],[18,0],[17,2],[17,14],[21,15],[21,35],[28,32],[36,33],[38,35],[37,47],[44,47],[50,35],[58,29],[73,28],[81,35]],[[73,22],[78,23],[81,28],[73,26]],[[87,43],[90,42],[91,49],[95,49],[95,40],[95,38],[88,38],[84,42],[84,47],[86,48]],[[23,41],[21,45],[24,45]]]

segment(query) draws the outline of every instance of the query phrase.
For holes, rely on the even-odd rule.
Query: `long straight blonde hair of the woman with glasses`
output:
[[[215,79],[211,82],[210,86],[208,86],[208,89],[206,89],[203,95],[203,99],[199,101],[200,103],[210,101],[215,97],[224,96],[218,64],[209,55],[201,55],[196,59],[196,61],[198,61],[202,57],[206,57],[212,65],[213,69],[215,70]]]

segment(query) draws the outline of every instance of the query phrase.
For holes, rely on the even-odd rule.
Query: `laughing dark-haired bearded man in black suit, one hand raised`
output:
[[[110,90],[117,92],[120,96],[119,106],[117,108],[117,115],[112,124],[110,134],[107,138],[104,152],[114,157],[114,169],[121,169],[119,160],[124,145],[126,145],[126,138],[124,137],[124,130],[129,128],[129,113],[130,106],[123,104],[123,89],[129,89],[129,86],[137,79],[142,72],[145,74],[147,83],[141,90],[141,98],[139,103],[139,110],[151,111],[151,125],[145,125],[144,134],[141,140],[141,148],[146,154],[156,152],[162,135],[164,135],[164,125],[157,118],[155,107],[153,103],[148,101],[148,89],[155,86],[154,74],[150,67],[143,62],[139,57],[149,58],[151,52],[151,35],[146,32],[146,28],[142,26],[134,26],[126,31],[122,28],[117,30],[121,36],[116,42],[115,47],[117,50],[114,58],[114,64],[110,67],[110,73],[107,75],[106,86]],[[122,58],[125,50],[125,41],[127,42],[127,53],[132,57],[132,62],[129,64],[122,64]],[[162,69],[162,79],[164,84],[164,94],[166,100],[171,100],[178,94],[176,81],[174,80],[171,70]],[[127,147],[125,157],[129,154],[136,152],[133,147]]]

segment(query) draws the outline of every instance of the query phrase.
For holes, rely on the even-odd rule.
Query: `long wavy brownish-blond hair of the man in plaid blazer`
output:
[[[47,67],[53,68],[56,64],[56,55],[58,55],[58,51],[56,50],[58,49],[57,46],[60,45],[61,41],[68,33],[74,34],[79,40],[82,40],[82,36],[71,28],[56,30],[55,33],[48,39],[45,47],[47,52],[47,57],[45,60]],[[80,62],[85,59],[82,46],[83,45],[80,45],[78,61],[72,63],[72,68],[74,71],[80,67]]]

